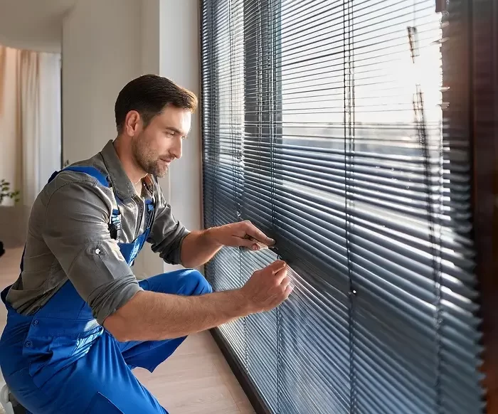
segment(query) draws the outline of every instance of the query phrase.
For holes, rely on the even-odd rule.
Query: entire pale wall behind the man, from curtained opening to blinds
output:
[[[78,0],[63,22],[63,153],[70,162],[100,151],[116,136],[114,104],[121,88],[156,73],[198,93],[198,1]],[[201,226],[199,114],[184,156],[161,188],[188,228]],[[137,277],[171,270],[149,246],[135,261]]]

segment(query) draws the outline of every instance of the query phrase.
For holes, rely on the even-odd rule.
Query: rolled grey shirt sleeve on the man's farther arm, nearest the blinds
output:
[[[166,203],[161,187],[154,182],[157,193],[156,216],[147,241],[152,244],[152,251],[171,265],[181,264],[181,244],[189,235],[189,230],[174,218],[171,206]]]

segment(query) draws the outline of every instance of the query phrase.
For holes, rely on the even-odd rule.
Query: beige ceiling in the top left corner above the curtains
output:
[[[60,52],[63,16],[77,0],[0,0],[0,44]]]

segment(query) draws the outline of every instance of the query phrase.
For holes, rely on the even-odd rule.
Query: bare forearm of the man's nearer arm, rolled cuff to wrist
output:
[[[255,312],[240,290],[199,296],[142,291],[107,317],[118,341],[159,341],[218,327]]]

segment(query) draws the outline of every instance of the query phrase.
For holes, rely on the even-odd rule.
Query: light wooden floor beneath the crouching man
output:
[[[1,289],[16,280],[21,254],[21,249],[7,250],[0,258]],[[5,322],[6,309],[0,302],[0,331]],[[142,368],[134,369],[134,373],[170,414],[254,413],[208,332],[187,338],[154,373]],[[0,388],[3,385],[0,376]]]

